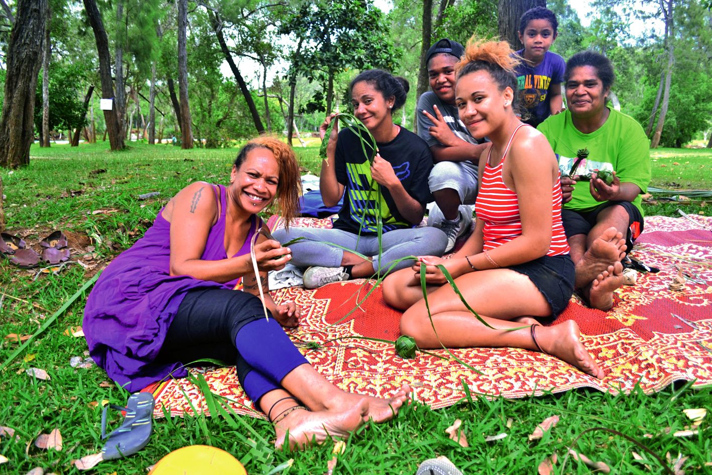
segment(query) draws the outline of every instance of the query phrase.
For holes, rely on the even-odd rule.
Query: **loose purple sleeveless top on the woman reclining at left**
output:
[[[220,200],[220,217],[211,227],[203,261],[226,259],[225,187],[210,185]],[[244,244],[235,256],[248,254],[261,220],[253,215]],[[155,362],[168,328],[187,291],[199,287],[234,288],[226,283],[200,281],[191,276],[171,276],[170,223],[163,209],[136,243],[105,268],[94,284],[84,309],[83,330],[91,357],[107,374],[130,392],[172,373],[186,374],[178,362]],[[233,256],[233,257],[235,257]]]

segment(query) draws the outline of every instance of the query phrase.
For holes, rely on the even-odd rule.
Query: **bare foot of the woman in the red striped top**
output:
[[[577,367],[587,375],[603,379],[605,373],[581,343],[581,332],[574,320],[567,320],[553,327],[539,326],[535,331],[538,343],[545,353]]]

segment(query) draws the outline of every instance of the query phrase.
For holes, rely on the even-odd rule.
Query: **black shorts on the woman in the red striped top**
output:
[[[553,317],[562,313],[569,304],[574,293],[576,272],[574,262],[568,254],[543,256],[508,268],[523,273],[534,283],[548,301]]]

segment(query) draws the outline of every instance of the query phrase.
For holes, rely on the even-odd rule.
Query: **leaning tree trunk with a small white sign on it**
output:
[[[114,84],[111,78],[111,56],[109,54],[109,40],[106,36],[101,14],[96,6],[96,0],[83,0],[84,9],[89,17],[89,22],[96,38],[96,48],[99,55],[99,76],[101,78],[101,97],[104,99],[114,98]],[[114,103],[111,110],[104,111],[106,122],[106,132],[109,134],[111,150],[123,150],[124,137],[119,127],[117,115],[117,105]]]

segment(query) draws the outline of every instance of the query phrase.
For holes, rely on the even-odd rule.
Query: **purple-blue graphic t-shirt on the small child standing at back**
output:
[[[524,50],[517,51],[517,54],[524,56]],[[517,67],[518,88],[526,109],[523,122],[536,127],[551,115],[549,88],[552,84],[563,82],[565,68],[564,58],[551,51],[547,51],[543,61],[534,68],[526,61]]]

